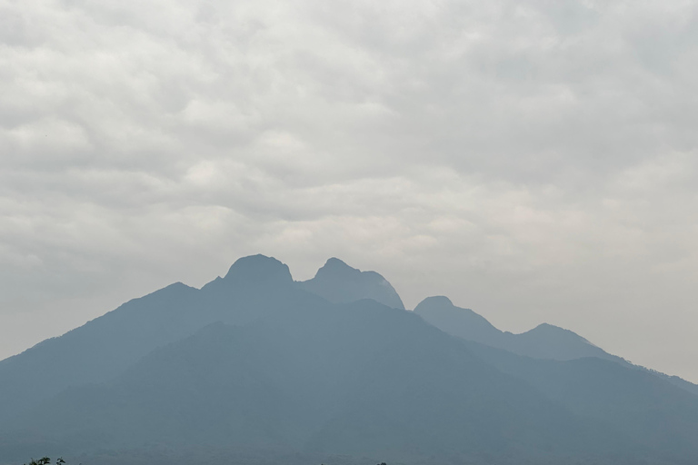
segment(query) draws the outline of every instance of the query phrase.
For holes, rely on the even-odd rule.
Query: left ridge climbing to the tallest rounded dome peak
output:
[[[247,305],[245,297],[264,283],[273,291],[255,295]],[[246,322],[266,308],[283,308],[291,303],[284,302],[282,294],[293,285],[286,265],[256,255],[238,260],[224,278],[202,291],[178,282],[126,302],[61,337],[0,361],[0,400],[12,400],[0,401],[0,422],[69,386],[111,379],[146,353],[206,324],[233,317]],[[227,312],[232,307],[240,308]]]

